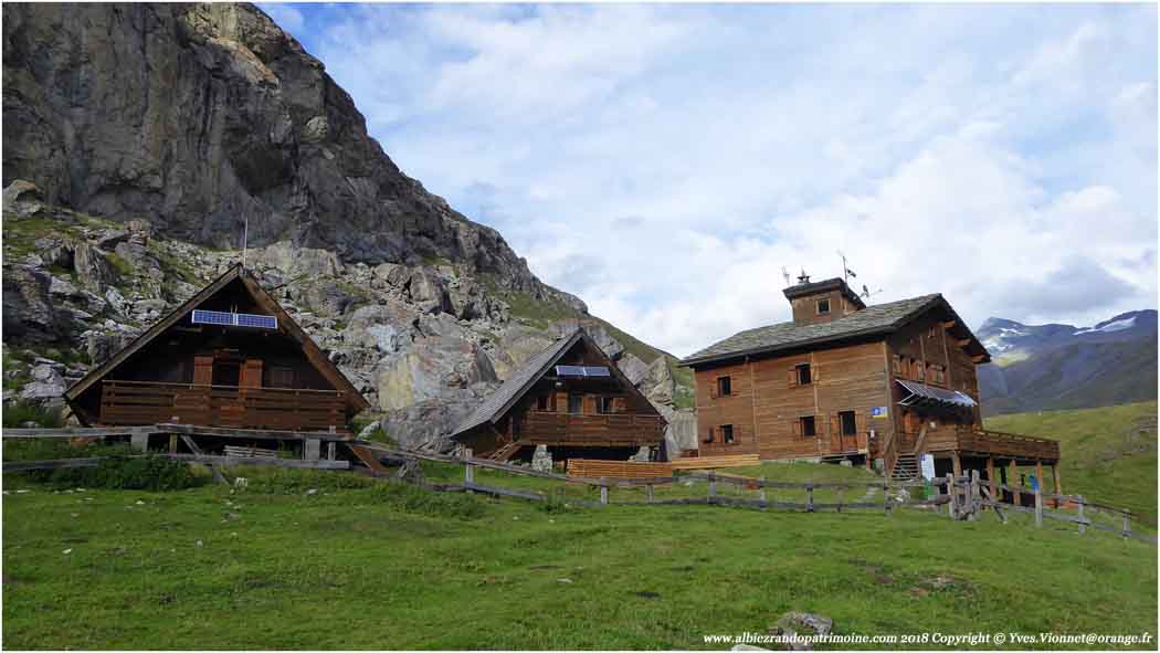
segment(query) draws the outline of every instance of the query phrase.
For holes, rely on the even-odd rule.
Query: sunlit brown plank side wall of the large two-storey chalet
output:
[[[813,383],[798,385],[795,367],[809,363]],[[717,378],[728,376],[733,394],[716,397]],[[757,358],[732,365],[696,370],[697,437],[705,456],[757,452],[763,459],[803,458],[838,454],[847,448],[835,438],[838,413],[854,411],[862,442],[876,431],[880,438],[893,428],[890,419],[871,418],[871,408],[889,406],[886,350],[868,342]],[[817,435],[804,436],[796,425],[813,415]],[[709,428],[732,423],[733,444],[706,443]]]

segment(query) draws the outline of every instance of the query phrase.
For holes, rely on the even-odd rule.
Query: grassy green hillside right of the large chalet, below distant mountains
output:
[[[986,426],[1058,440],[1065,493],[1131,508],[1157,525],[1155,401],[995,415]]]

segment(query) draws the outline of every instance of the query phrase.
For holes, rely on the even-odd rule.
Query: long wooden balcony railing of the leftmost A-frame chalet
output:
[[[179,422],[209,427],[346,430],[341,392],[104,380],[101,423],[135,426]]]

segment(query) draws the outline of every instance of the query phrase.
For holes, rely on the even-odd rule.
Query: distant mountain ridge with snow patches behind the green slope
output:
[[[991,318],[978,331],[993,363],[979,368],[986,414],[1110,406],[1157,398],[1157,311],[1090,327]]]

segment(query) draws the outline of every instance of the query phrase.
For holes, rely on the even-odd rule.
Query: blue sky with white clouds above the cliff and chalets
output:
[[[877,304],[1157,306],[1155,5],[260,5],[392,160],[679,356]]]

